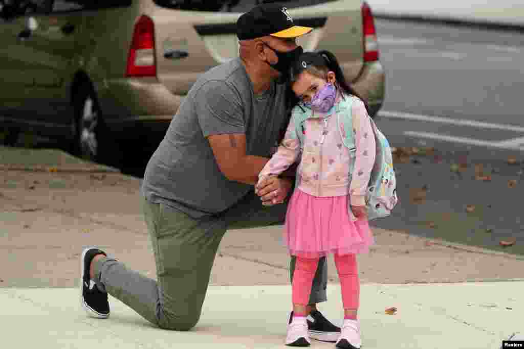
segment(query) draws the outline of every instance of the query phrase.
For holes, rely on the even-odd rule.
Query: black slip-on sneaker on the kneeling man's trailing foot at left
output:
[[[82,252],[80,258],[80,292],[82,307],[88,316],[97,319],[107,319],[109,317],[109,301],[107,293],[102,292],[96,287],[95,282],[89,277],[89,267],[93,257],[97,254],[105,254],[104,251],[90,247]]]

